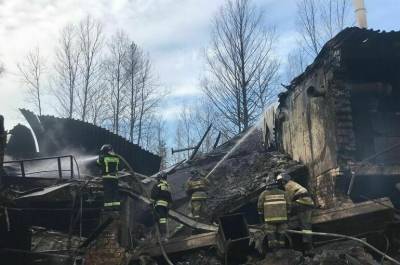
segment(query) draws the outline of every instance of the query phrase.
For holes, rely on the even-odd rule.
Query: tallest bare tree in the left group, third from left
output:
[[[80,72],[82,87],[80,89],[80,114],[83,121],[88,116],[89,106],[92,104],[95,89],[101,76],[101,49],[103,46],[102,24],[87,16],[79,24],[79,43],[82,54]]]

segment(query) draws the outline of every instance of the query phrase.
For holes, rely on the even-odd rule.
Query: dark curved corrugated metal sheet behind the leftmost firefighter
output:
[[[111,144],[115,152],[122,155],[138,173],[151,175],[160,168],[159,156],[104,128],[80,120],[38,117],[29,110],[20,111],[34,131],[43,155],[60,155],[72,150],[97,154],[103,144]]]

